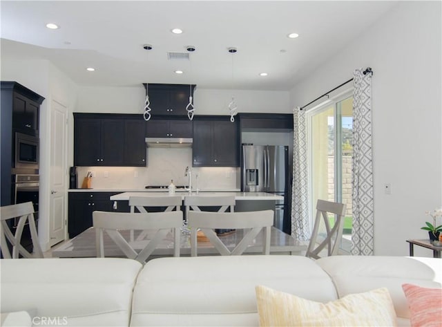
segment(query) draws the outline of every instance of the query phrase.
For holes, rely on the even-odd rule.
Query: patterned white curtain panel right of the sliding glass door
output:
[[[372,73],[354,71],[353,91],[353,227],[352,254],[372,255]]]

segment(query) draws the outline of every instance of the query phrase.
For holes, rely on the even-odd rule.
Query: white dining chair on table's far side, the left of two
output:
[[[129,197],[129,207],[131,212],[140,212],[142,214],[147,213],[146,207],[166,207],[164,212],[171,212],[173,210],[180,210],[182,204],[181,196],[131,196]],[[134,232],[131,230],[131,241],[134,240]],[[146,232],[138,235],[138,239],[142,239],[146,236]]]

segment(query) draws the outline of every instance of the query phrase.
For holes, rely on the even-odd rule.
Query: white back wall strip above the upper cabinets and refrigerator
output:
[[[229,115],[227,106],[232,94],[238,112],[291,113],[288,91],[244,91],[195,89],[195,115]],[[143,113],[144,86],[79,88],[76,112],[81,113]],[[152,108],[155,115],[155,108]]]

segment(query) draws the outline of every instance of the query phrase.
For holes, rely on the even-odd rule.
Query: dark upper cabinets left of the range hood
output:
[[[74,114],[74,165],[146,166],[144,120],[104,115]]]

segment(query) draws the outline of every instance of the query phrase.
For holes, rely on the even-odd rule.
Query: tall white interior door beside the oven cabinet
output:
[[[66,106],[52,100],[50,113],[50,246],[66,239]]]

